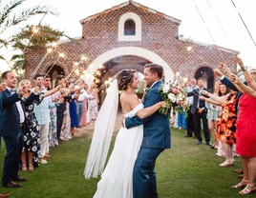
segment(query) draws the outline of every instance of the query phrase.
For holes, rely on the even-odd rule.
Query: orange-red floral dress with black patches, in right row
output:
[[[218,140],[226,144],[236,144],[236,121],[237,114],[235,109],[236,98],[227,101],[223,105],[223,111],[218,121]]]

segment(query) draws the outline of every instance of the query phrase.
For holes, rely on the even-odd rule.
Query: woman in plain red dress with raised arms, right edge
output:
[[[245,81],[248,86],[245,86],[237,76],[230,75],[231,81],[245,92],[239,100],[239,117],[237,121],[237,153],[243,157],[244,178],[238,185],[233,188],[244,188],[239,191],[240,194],[249,194],[255,191],[256,179],[256,83],[247,72],[242,60],[239,60],[239,65],[245,75]],[[255,76],[253,76],[255,77]]]

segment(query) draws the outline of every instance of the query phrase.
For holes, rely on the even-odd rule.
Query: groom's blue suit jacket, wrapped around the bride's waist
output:
[[[151,107],[162,101],[160,92],[164,84],[157,82],[144,97],[144,108]],[[156,111],[151,116],[140,119],[137,115],[125,119],[125,127],[127,129],[143,125],[143,148],[171,148],[171,129],[169,118]]]

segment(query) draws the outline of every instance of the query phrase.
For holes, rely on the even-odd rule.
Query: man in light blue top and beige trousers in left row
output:
[[[33,78],[35,87],[39,87],[39,92],[45,93],[47,90],[42,87],[44,77],[41,74],[36,74]],[[32,89],[33,91],[34,89]],[[50,109],[54,109],[59,106],[63,101],[52,102],[51,96],[47,96],[39,104],[34,106],[34,113],[39,127],[40,135],[40,154],[39,162],[46,164],[45,160],[46,150],[48,149],[48,134],[49,134],[49,123],[50,123]]]

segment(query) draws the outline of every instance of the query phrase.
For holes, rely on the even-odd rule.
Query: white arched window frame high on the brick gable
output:
[[[124,35],[124,24],[129,19],[135,22],[135,35]],[[118,41],[141,41],[141,19],[137,13],[127,12],[121,15],[118,22]]]

